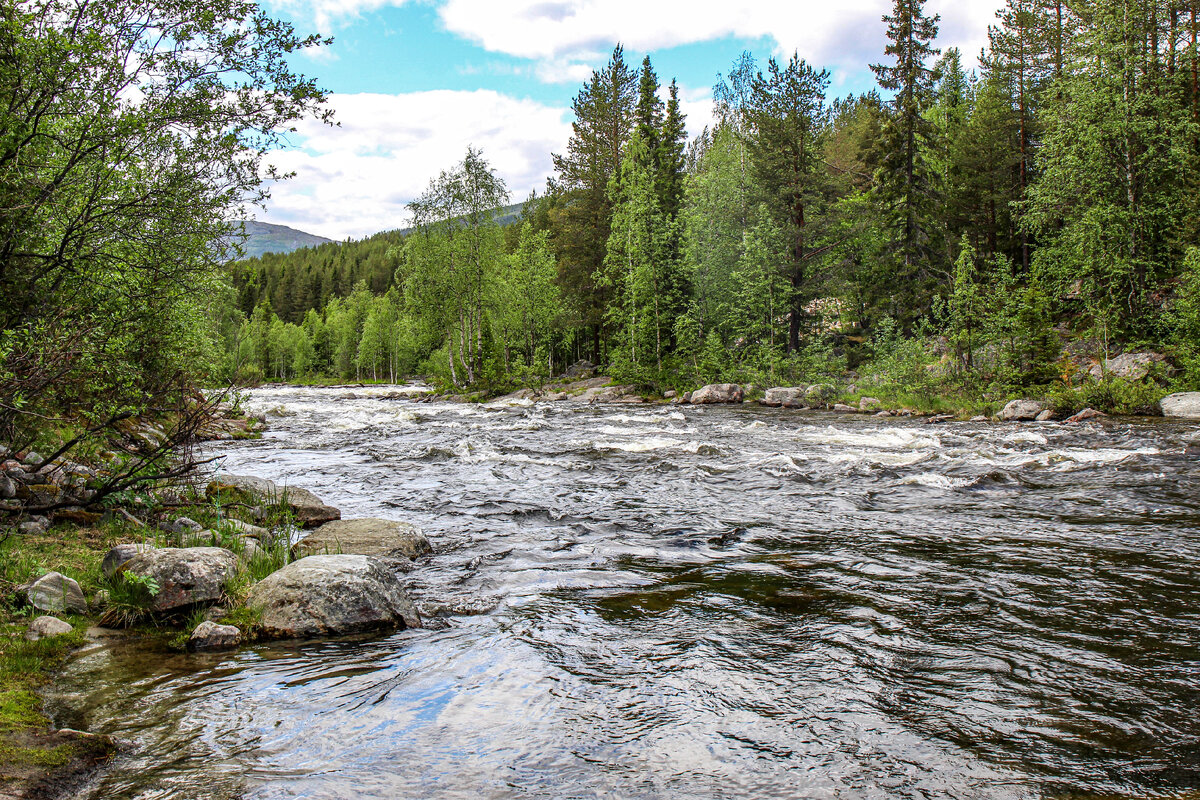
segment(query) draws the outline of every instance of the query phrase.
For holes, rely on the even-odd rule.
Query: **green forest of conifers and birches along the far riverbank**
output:
[[[1200,378],[1194,4],[1009,0],[970,73],[923,6],[884,17],[880,92],[830,100],[818,66],[744,54],[690,143],[676,85],[618,47],[516,223],[470,150],[407,235],[235,266],[227,371],[462,386],[589,359],[1003,389],[1063,378],[1072,339],[1153,343]]]

